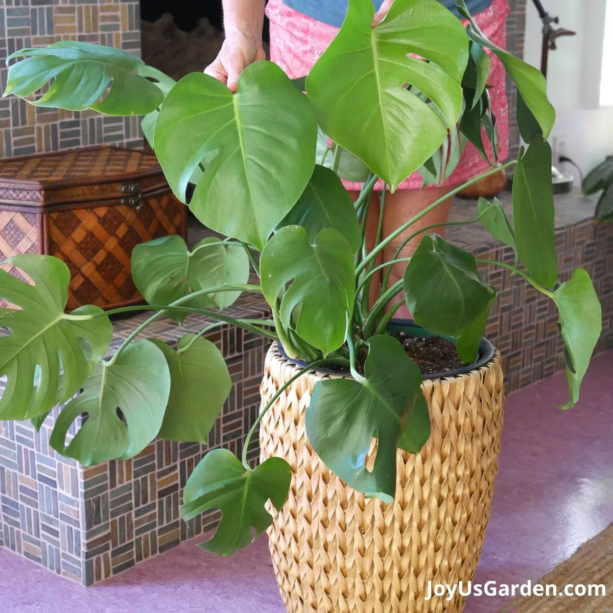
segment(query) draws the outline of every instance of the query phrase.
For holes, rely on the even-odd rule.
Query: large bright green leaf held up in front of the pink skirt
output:
[[[394,191],[457,123],[468,44],[460,21],[436,0],[396,0],[371,28],[374,15],[371,0],[349,0],[337,37],[308,75],[307,93],[322,130]]]

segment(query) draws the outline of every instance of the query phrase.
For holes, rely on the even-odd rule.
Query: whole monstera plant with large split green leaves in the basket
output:
[[[466,223],[479,221],[516,253],[515,264],[488,264],[522,276],[557,306],[570,389],[565,408],[573,406],[600,336],[601,310],[585,270],[558,279],[546,140],[554,109],[538,70],[489,42],[461,0],[459,9],[466,28],[436,0],[396,0],[373,29],[371,0],[349,0],[338,36],[306,80],[292,82],[275,64],[259,61],[245,69],[235,94],[208,75],[188,74],[175,83],[125,51],[83,42],[13,53],[5,95],[37,106],[144,115],[143,131],[174,194],[187,202],[188,183],[194,184],[189,208],[227,238],[205,238],[191,251],[177,236],[134,249],[134,280],[150,305],[136,308],[156,313],[112,355],[109,316],[129,308],[65,313],[66,265],[48,256],[12,257],[32,283],[0,272],[0,297],[14,305],[0,312],[6,332],[0,338],[0,375],[6,377],[0,419],[40,425],[53,406],[65,405],[50,443],[83,465],[127,459],[156,436],[206,443],[230,377],[204,335],[232,324],[279,341],[289,358],[307,362],[297,376],[324,365],[346,372],[316,385],[308,439],[349,485],[392,501],[397,448],[419,451],[430,427],[421,373],[387,333],[390,319],[406,301],[417,324],[457,339],[460,358],[470,364],[496,291],[479,276],[483,261],[436,234],[424,234],[410,258],[400,258],[398,249],[392,261],[375,264],[401,234],[419,234],[410,233],[411,226],[448,196],[387,237],[379,226],[369,249],[371,193],[379,178],[394,191],[416,170],[425,183],[443,181],[467,141],[492,160],[481,177],[498,172],[487,84],[491,56],[517,85],[529,146],[502,166],[516,166],[512,221],[497,200],[481,200],[478,217]],[[341,178],[364,181],[357,202]],[[404,279],[389,286],[390,267],[401,262]],[[259,283],[249,282],[250,265]],[[381,289],[369,303],[379,273]],[[272,319],[224,314],[242,292],[264,295]],[[180,322],[194,313],[213,323],[185,335],[176,349],[137,339],[162,315]],[[223,512],[208,550],[228,554],[249,543],[252,528],[259,534],[272,521],[267,501],[279,509],[286,499],[291,473],[283,459],[257,468],[246,461],[249,438],[271,403],[249,432],[242,462],[216,449],[189,479],[184,517],[210,508]],[[68,435],[79,416],[86,419]],[[367,470],[373,436],[378,451]]]

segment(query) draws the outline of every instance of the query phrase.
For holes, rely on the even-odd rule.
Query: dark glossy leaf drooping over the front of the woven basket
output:
[[[397,339],[375,335],[368,345],[364,381],[316,383],[307,408],[307,436],[326,466],[348,485],[392,503],[398,439],[412,411],[416,407],[423,411],[425,404],[422,375]],[[423,417],[423,413],[416,416],[412,422],[416,430],[403,435],[406,446],[416,447],[427,439],[429,420]],[[370,471],[367,457],[373,437],[378,447]]]

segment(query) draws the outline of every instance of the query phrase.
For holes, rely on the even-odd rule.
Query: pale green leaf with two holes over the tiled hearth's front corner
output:
[[[135,341],[115,364],[96,366],[83,383],[81,394],[59,413],[49,443],[83,466],[127,460],[158,434],[169,392],[170,374],[164,354],[148,340]],[[82,414],[87,419],[66,446],[68,429]]]

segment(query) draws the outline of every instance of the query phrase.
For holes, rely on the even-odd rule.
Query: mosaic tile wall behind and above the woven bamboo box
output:
[[[6,86],[6,57],[25,47],[58,40],[83,40],[140,55],[140,2],[118,0],[2,0],[0,86]],[[32,107],[14,97],[0,99],[0,158],[112,143],[140,147],[139,118]]]

